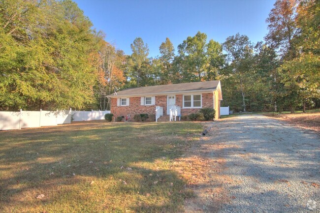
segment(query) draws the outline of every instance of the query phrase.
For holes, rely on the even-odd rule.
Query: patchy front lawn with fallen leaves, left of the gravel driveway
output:
[[[0,212],[180,212],[175,161],[199,123],[87,123],[0,132]]]

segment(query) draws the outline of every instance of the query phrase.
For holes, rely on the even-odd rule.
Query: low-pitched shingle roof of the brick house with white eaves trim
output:
[[[117,94],[108,95],[108,97],[117,96],[139,96],[149,94],[165,94],[165,93],[179,93],[188,91],[213,91],[217,89],[220,81],[202,81],[182,84],[169,84],[169,85],[158,85],[149,87],[130,88],[123,91],[117,91]]]

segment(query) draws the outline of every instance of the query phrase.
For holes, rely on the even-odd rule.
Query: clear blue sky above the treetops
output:
[[[105,40],[130,55],[130,44],[141,37],[149,57],[160,55],[168,37],[175,50],[197,31],[223,43],[237,32],[251,41],[263,40],[266,18],[275,0],[74,0]]]

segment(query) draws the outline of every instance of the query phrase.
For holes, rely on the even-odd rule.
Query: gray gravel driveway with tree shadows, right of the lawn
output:
[[[320,137],[261,115],[216,122],[230,197],[221,213],[320,212]],[[212,152],[215,157],[215,152]]]

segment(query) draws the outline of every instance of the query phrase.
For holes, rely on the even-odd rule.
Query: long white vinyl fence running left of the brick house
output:
[[[103,120],[110,111],[22,111],[0,112],[0,130],[55,126],[71,121]]]

